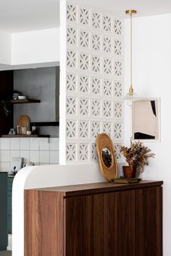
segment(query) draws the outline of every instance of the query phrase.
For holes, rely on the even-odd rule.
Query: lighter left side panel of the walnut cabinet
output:
[[[25,256],[63,255],[63,196],[25,190]]]

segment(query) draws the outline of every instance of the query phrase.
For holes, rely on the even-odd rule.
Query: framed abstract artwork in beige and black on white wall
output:
[[[159,141],[159,99],[133,102],[132,137],[137,140]]]

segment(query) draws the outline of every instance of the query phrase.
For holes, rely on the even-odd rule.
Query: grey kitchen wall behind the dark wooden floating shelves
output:
[[[14,70],[14,90],[30,99],[40,99],[38,104],[14,104],[14,128],[20,115],[28,115],[31,122],[59,120],[59,67],[41,67]],[[59,136],[59,129],[43,127],[41,134]]]

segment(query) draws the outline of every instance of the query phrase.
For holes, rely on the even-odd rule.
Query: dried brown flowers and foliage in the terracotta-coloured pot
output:
[[[141,169],[141,172],[145,165],[149,165],[148,158],[155,156],[154,153],[150,153],[151,149],[143,146],[141,141],[133,142],[132,139],[130,139],[129,148],[127,146],[120,146],[120,152],[125,157],[128,165]]]

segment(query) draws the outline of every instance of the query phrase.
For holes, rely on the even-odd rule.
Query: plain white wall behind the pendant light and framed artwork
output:
[[[171,95],[171,15],[133,20],[133,88],[141,97],[161,97],[161,142],[146,143],[156,154],[142,177],[164,181],[164,256],[171,255],[171,173],[170,173],[170,95]],[[125,20],[125,91],[129,78],[129,20]],[[126,105],[126,104],[125,104]],[[125,106],[125,144],[130,141],[130,109]]]

